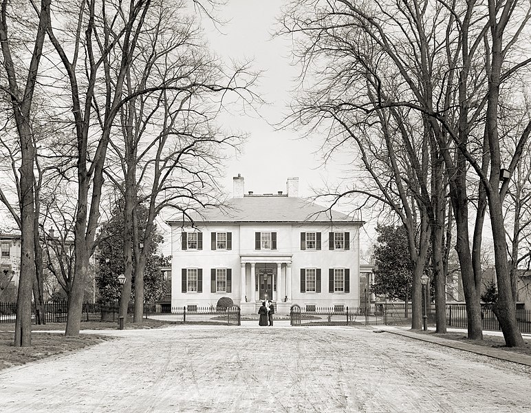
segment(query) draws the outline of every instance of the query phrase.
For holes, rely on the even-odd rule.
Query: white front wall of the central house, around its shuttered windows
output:
[[[198,307],[215,306],[220,297],[230,297],[235,304],[241,303],[241,260],[243,257],[274,260],[273,257],[291,257],[292,277],[286,279],[291,283],[289,304],[307,304],[317,307],[359,306],[359,226],[323,224],[243,224],[199,226],[203,233],[202,250],[182,251],[182,231],[194,231],[190,227],[172,226],[172,307],[195,304]],[[276,232],[277,249],[272,251],[254,249],[254,233]],[[329,232],[349,232],[348,250],[329,250]],[[210,248],[212,232],[231,232],[232,249],[230,251]],[[321,232],[321,250],[301,250],[301,232]],[[182,293],[182,268],[202,268],[202,293]],[[232,291],[230,293],[210,293],[210,268],[232,269]],[[321,268],[321,293],[301,293],[301,268]],[[349,268],[349,293],[329,293],[329,268]],[[251,277],[250,265],[246,266],[246,291],[248,301],[254,302],[254,279]],[[277,301],[283,301],[281,292],[285,286],[279,286],[285,279],[288,268],[281,266],[281,275],[277,275]],[[288,289],[289,290],[289,289]]]

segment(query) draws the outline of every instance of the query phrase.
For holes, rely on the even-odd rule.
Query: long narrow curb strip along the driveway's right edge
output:
[[[517,352],[510,352],[506,350],[497,350],[496,348],[491,347],[475,346],[474,344],[462,343],[461,341],[455,341],[450,339],[441,339],[439,337],[424,336],[421,334],[415,334],[411,331],[399,330],[397,328],[376,328],[376,330],[390,332],[391,334],[401,335],[402,337],[409,337],[410,339],[426,341],[427,343],[439,344],[440,346],[473,352],[482,356],[492,357],[493,359],[510,361],[512,363],[523,364],[523,366],[531,367],[531,356],[528,356],[526,354],[519,354]]]

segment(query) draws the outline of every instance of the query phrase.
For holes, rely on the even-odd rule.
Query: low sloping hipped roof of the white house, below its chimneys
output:
[[[168,224],[182,224],[182,215],[173,215],[166,220]],[[336,223],[363,224],[349,215],[331,211],[303,198],[286,195],[246,195],[232,198],[224,207],[209,207],[193,215],[195,222],[243,224],[252,222],[287,222],[287,223]]]

